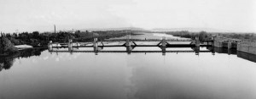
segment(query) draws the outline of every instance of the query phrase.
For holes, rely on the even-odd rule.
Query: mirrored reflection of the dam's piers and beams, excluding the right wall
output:
[[[50,54],[53,52],[94,52],[95,55],[98,55],[99,52],[126,52],[128,55],[131,52],[162,52],[162,55],[165,56],[166,52],[195,52],[195,55],[199,55],[199,52],[212,52],[213,50],[201,50],[200,47],[84,47],[82,48],[73,48],[75,50],[70,50],[70,48],[49,48]],[[109,50],[110,49],[110,50]]]

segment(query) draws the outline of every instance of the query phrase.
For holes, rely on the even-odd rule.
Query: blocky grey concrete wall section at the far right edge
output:
[[[241,42],[237,44],[237,51],[256,55],[256,42]]]

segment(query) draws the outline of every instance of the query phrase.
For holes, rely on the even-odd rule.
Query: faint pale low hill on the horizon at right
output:
[[[191,32],[200,32],[202,30],[207,32],[230,32],[230,30],[218,30],[213,28],[155,28],[152,31],[181,31],[181,30],[188,30]]]

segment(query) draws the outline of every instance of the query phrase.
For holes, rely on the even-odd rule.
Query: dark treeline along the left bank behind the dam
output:
[[[94,37],[100,40],[126,36],[127,34],[134,35],[136,30],[108,30],[108,31],[80,31],[77,30],[74,33],[69,31],[60,31],[57,33],[44,32],[39,33],[38,31],[33,31],[32,33],[21,32],[21,33],[1,33],[1,36],[5,36],[14,45],[31,45],[33,47],[46,46],[49,41],[54,42],[67,42],[68,39],[73,39],[73,41],[93,41]]]

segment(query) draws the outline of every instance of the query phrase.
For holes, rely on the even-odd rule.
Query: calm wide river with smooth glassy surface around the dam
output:
[[[159,35],[153,36],[160,38]],[[122,51],[125,47],[103,50]],[[161,51],[159,47],[134,50]],[[99,52],[96,55],[44,49],[23,53],[19,57],[0,58],[0,99],[256,98],[256,57],[233,50],[215,48],[215,53],[199,55],[195,52],[166,52],[166,55]]]

